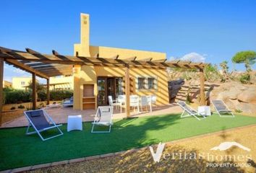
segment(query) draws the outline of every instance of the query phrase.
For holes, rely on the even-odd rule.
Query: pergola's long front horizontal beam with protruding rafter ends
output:
[[[110,66],[156,66],[156,67],[179,67],[179,68],[203,68],[204,63],[191,63],[184,61],[152,61],[153,58],[141,59],[139,61],[127,61],[126,59],[112,59],[112,58],[92,58],[92,57],[80,57],[80,56],[54,56],[54,55],[43,55],[35,52],[35,50],[27,49],[28,52],[14,51],[9,49],[4,49],[7,53],[0,53],[1,58],[6,59],[16,59],[23,61],[35,61],[41,63],[61,63],[69,65],[110,65]],[[32,53],[32,54],[31,54]],[[117,57],[117,56],[116,56]]]

